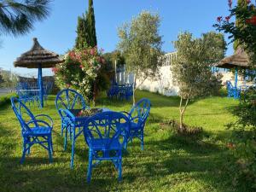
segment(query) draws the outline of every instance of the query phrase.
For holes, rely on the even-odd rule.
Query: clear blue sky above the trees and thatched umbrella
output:
[[[22,75],[36,75],[37,70],[13,67],[15,58],[31,49],[34,37],[45,49],[58,54],[73,48],[77,18],[87,9],[88,0],[55,0],[50,7],[49,18],[36,23],[32,32],[18,38],[0,37],[0,67]],[[98,46],[105,52],[116,48],[119,41],[117,28],[142,10],[159,13],[160,35],[166,52],[174,50],[172,41],[177,39],[179,32],[189,31],[198,37],[202,32],[214,31],[212,24],[219,15],[229,14],[227,0],[94,0],[94,7]],[[227,55],[232,53],[230,45]],[[49,69],[44,69],[43,73],[51,74]]]

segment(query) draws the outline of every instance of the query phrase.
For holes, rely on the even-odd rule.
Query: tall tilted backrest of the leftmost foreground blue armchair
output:
[[[20,122],[20,126],[21,126],[21,132],[22,134],[25,131],[31,131],[28,123],[32,121],[32,123],[35,126],[38,126],[37,122],[35,121],[35,117],[32,114],[32,112],[26,107],[26,105],[20,101],[20,99],[16,98],[16,97],[11,97],[11,105],[12,108],[15,112],[15,115],[17,117],[17,119]]]

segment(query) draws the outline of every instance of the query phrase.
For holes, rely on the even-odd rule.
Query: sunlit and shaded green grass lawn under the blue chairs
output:
[[[54,162],[48,153],[34,146],[20,165],[20,125],[9,105],[0,107],[0,191],[246,191],[232,185],[226,170],[228,158],[225,142],[229,131],[225,125],[234,121],[230,108],[238,103],[226,97],[208,97],[191,102],[185,123],[204,128],[203,137],[180,137],[163,128],[165,119],[178,119],[178,97],[159,96],[137,91],[137,99],[148,97],[151,114],[145,127],[145,148],[137,140],[123,157],[123,181],[109,162],[93,169],[91,183],[86,183],[88,148],[81,135],[76,143],[74,169],[69,168],[71,143],[63,151],[60,118],[55,109],[55,96],[49,96],[44,109],[33,113],[49,114],[55,122],[53,131]],[[130,102],[113,102],[102,96],[99,107],[129,111]]]

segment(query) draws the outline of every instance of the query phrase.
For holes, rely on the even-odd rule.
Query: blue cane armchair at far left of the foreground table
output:
[[[53,121],[46,114],[34,116],[26,108],[26,105],[18,98],[11,98],[11,105],[21,126],[21,135],[23,137],[23,149],[20,163],[25,160],[26,154],[30,154],[30,148],[34,144],[39,144],[49,152],[49,162],[52,162],[53,144],[52,129]],[[47,119],[47,121],[45,121]]]

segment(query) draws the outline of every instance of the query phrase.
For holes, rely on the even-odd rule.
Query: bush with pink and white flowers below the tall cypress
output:
[[[93,86],[104,63],[102,49],[73,49],[65,55],[65,62],[52,68],[52,72],[61,89],[78,90],[86,100],[91,100]]]

